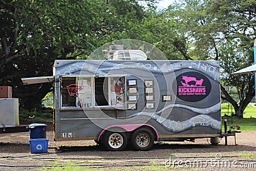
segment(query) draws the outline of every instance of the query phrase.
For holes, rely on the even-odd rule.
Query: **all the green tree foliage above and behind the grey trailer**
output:
[[[168,59],[220,60],[222,84],[236,86],[242,101],[253,96],[252,77],[230,73],[253,63],[256,0],[184,0],[162,11],[157,1],[144,2],[147,8],[136,0],[1,1],[1,84],[18,86],[19,77],[51,75],[54,59],[87,59],[105,43],[137,39]]]

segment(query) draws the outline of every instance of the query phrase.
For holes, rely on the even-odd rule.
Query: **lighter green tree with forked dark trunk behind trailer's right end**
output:
[[[252,64],[255,4],[255,0],[185,0],[169,8],[172,14],[176,12],[175,17],[187,29],[184,35],[189,35],[191,42],[187,44],[191,47],[183,48],[186,54],[192,59],[221,61],[222,98],[232,103],[239,117],[243,117],[244,108],[253,98],[254,79],[252,75],[234,76],[231,73]],[[238,102],[228,94],[225,86],[236,87]]]

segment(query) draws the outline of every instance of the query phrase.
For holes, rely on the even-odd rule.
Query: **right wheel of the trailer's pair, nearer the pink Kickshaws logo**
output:
[[[154,145],[154,135],[147,128],[139,128],[132,133],[131,144],[138,151],[148,151]]]

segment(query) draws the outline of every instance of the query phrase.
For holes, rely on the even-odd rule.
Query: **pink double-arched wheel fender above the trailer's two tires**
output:
[[[156,136],[157,136],[157,140],[159,140],[159,135],[157,133],[157,130],[156,128],[154,128],[153,126],[149,125],[149,124],[120,124],[120,125],[111,125],[111,126],[108,126],[107,128],[105,128],[104,130],[100,131],[100,134],[99,134],[99,137],[98,137],[98,142],[100,140],[100,137],[103,135],[103,133],[105,131],[108,131],[108,130],[111,130],[113,128],[119,128],[121,130],[124,130],[124,131],[127,131],[127,132],[131,132],[131,131],[134,131],[136,130],[137,128],[140,128],[141,126],[148,126],[150,128],[152,128],[155,133],[156,133]]]

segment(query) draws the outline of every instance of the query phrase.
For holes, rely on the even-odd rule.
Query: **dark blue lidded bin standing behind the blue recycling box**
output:
[[[30,139],[46,138],[46,126],[47,124],[29,124]]]

